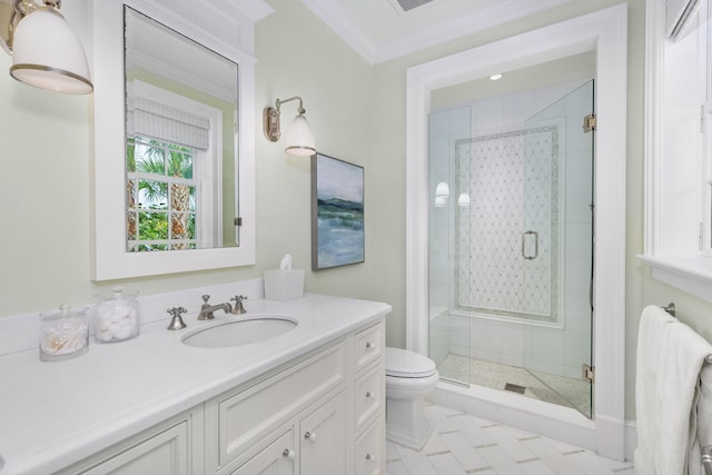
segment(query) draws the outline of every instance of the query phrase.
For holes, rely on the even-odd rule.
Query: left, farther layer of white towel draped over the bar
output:
[[[637,329],[635,363],[635,414],[637,447],[635,448],[635,473],[655,475],[654,454],[659,437],[657,413],[661,402],[656,397],[657,378],[663,359],[661,344],[665,327],[675,319],[656,306],[647,306],[641,314]]]

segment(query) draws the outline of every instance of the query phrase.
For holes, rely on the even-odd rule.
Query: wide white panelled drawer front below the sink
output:
[[[293,366],[240,393],[215,400],[218,466],[247,451],[256,437],[344,382],[344,343]]]

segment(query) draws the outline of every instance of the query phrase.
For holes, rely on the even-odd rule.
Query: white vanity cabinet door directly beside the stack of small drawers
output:
[[[330,399],[299,423],[300,473],[335,475],[346,473],[346,398]]]

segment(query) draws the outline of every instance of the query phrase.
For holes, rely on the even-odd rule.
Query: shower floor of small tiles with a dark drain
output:
[[[583,379],[533,373],[516,366],[467,358],[459,355],[447,355],[437,366],[441,377],[468,382],[492,389],[505,390],[507,385],[523,387],[524,397],[544,400],[558,406],[572,407],[584,415],[591,414],[589,407],[590,385]],[[467,376],[469,375],[469,376]],[[544,384],[545,383],[545,384]],[[515,393],[510,390],[510,393]]]

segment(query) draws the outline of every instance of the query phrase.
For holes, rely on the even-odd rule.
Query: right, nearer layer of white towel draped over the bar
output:
[[[696,441],[700,372],[712,345],[689,326],[674,321],[663,330],[655,399],[657,434],[655,469],[659,474],[689,474],[688,461]],[[700,459],[695,461],[699,473]]]

